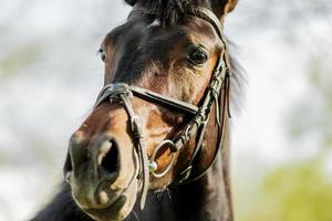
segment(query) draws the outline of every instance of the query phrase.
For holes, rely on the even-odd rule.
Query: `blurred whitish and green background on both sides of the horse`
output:
[[[121,0],[2,0],[0,220],[54,194],[66,143],[103,82],[96,51]],[[232,117],[239,221],[332,220],[332,3],[241,0],[226,21],[247,71]]]

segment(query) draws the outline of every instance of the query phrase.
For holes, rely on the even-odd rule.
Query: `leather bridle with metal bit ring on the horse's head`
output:
[[[211,80],[205,94],[199,102],[199,106],[195,106],[189,103],[185,103],[172,97],[164,96],[162,94],[137,87],[134,85],[128,85],[125,83],[111,83],[103,87],[101,91],[94,108],[96,108],[101,103],[108,99],[111,103],[117,102],[123,105],[128,115],[128,125],[132,135],[133,143],[138,154],[139,158],[139,179],[142,179],[142,196],[141,196],[141,209],[144,209],[145,200],[148,190],[149,175],[155,178],[160,178],[167,175],[170,168],[174,166],[176,155],[180,152],[184,146],[191,139],[196,138],[196,146],[190,160],[188,161],[186,168],[178,175],[175,179],[176,183],[187,183],[201,178],[208,169],[214,165],[217,159],[218,152],[222,148],[222,139],[225,131],[225,118],[227,114],[229,115],[229,86],[230,86],[230,65],[229,57],[227,54],[227,41],[222,34],[222,27],[218,18],[208,9],[199,9],[197,13],[190,14],[199,17],[208,21],[217,34],[219,35],[224,49],[218,57],[217,64],[214,69]],[[131,98],[133,96],[139,97],[144,101],[162,105],[169,109],[189,114],[191,119],[185,126],[185,129],[180,131],[173,139],[165,139],[162,141],[153,151],[151,158],[148,159],[145,145],[143,143],[142,126],[139,123],[139,117],[135,114]],[[221,108],[219,107],[221,103]],[[207,128],[207,123],[209,122],[211,107],[215,104],[215,118],[218,126],[218,138],[217,138],[217,149],[215,151],[212,161],[210,165],[198,176],[191,177],[191,169],[194,160],[196,159],[199,150],[203,146],[203,140],[205,131]],[[230,116],[229,116],[230,117]],[[172,152],[172,160],[169,165],[164,169],[164,171],[157,173],[157,162],[156,156],[159,150],[167,146]]]

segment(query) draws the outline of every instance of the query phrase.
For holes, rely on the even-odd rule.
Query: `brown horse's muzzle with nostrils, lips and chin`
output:
[[[93,219],[121,220],[131,212],[138,189],[137,173],[134,148],[120,148],[114,136],[98,136],[91,147],[84,139],[72,137],[64,176],[75,202]]]

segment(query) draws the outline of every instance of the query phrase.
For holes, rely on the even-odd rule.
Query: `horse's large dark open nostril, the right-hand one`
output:
[[[111,140],[110,144],[108,146],[101,147],[98,165],[107,173],[114,173],[118,169],[118,150],[116,143]]]

